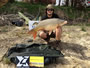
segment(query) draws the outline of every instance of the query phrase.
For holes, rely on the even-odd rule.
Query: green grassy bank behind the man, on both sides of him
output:
[[[23,3],[23,2],[14,2],[14,3],[7,3],[3,7],[0,8],[0,14],[9,14],[9,13],[18,13],[18,11],[24,13],[28,12],[36,17],[40,9],[40,15],[42,16],[45,13],[45,4],[30,4],[30,3]],[[90,8],[86,8],[83,11],[77,10],[73,7],[66,7],[66,6],[56,6],[56,10],[63,11],[65,16],[68,19],[76,19],[82,17],[83,19],[90,18]]]

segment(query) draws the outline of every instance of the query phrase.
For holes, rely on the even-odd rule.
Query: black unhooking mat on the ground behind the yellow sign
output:
[[[16,56],[44,56],[45,64],[55,62],[56,58],[63,57],[63,54],[48,44],[16,44],[10,48],[6,56],[15,63]]]

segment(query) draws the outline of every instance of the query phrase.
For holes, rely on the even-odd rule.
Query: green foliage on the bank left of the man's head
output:
[[[24,3],[24,2],[13,2],[13,3],[7,3],[3,7],[0,8],[0,14],[9,14],[9,13],[17,13],[20,12],[28,12],[33,15],[36,15],[40,10],[44,10],[45,6],[41,4],[30,4],[30,3]]]

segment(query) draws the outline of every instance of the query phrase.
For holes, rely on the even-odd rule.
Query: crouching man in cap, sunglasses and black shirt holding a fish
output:
[[[54,7],[52,4],[49,4],[46,7],[46,15],[42,17],[42,20],[50,19],[50,18],[59,18],[57,14],[54,13]],[[52,22],[51,22],[52,23]],[[62,28],[57,27],[55,31],[41,31],[39,33],[39,36],[49,42],[50,38],[56,38],[56,43],[59,44],[61,42],[61,34],[62,34]]]

